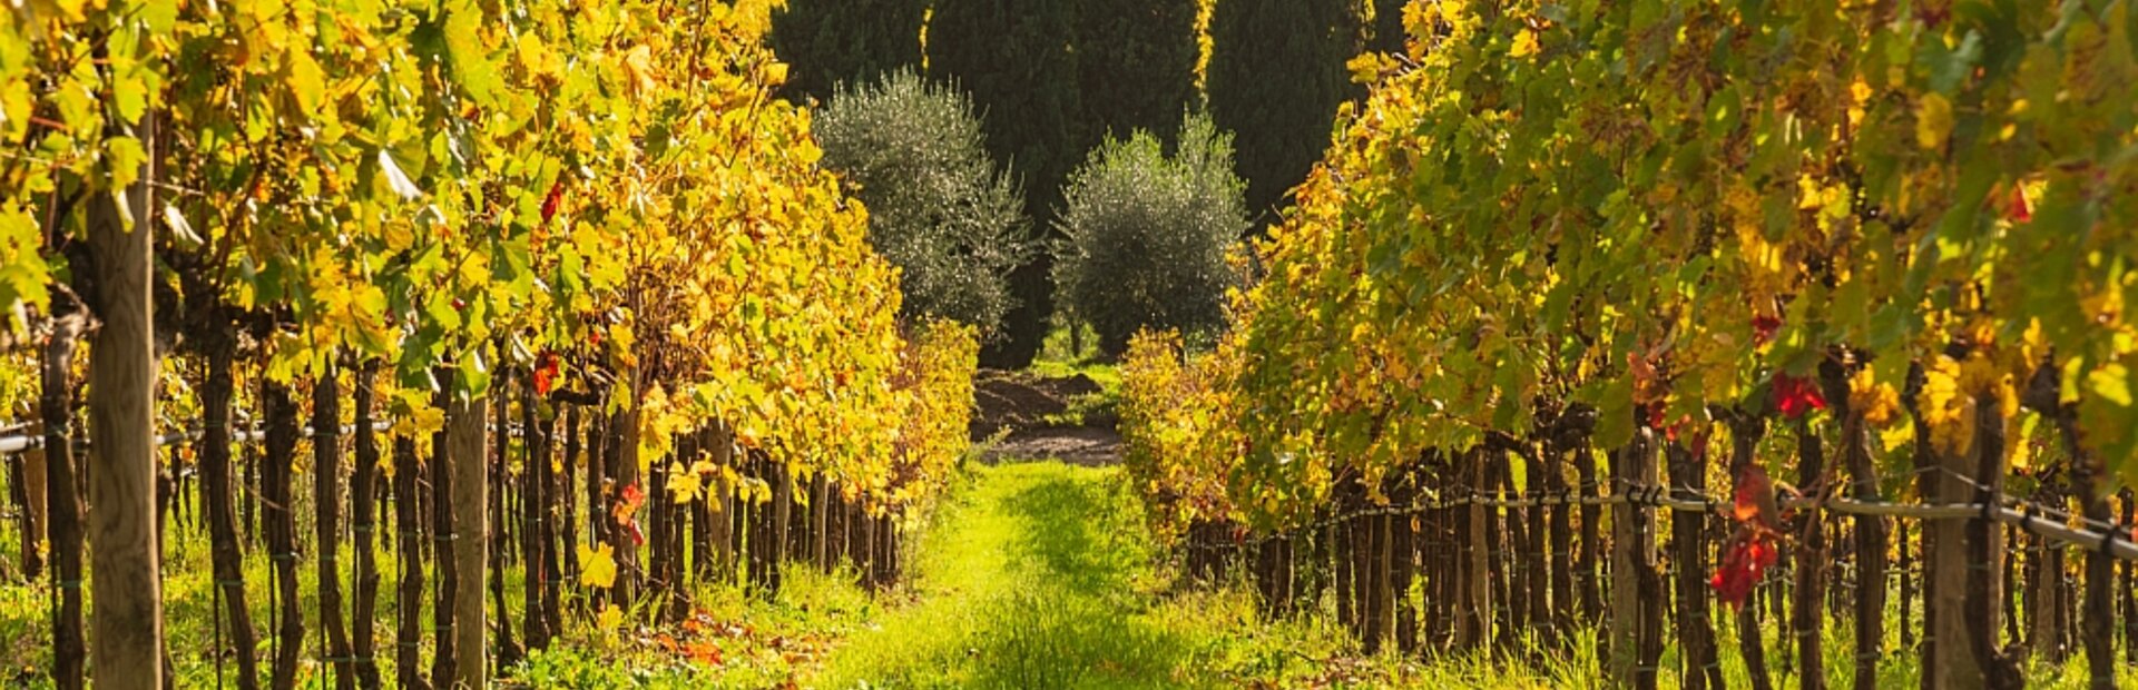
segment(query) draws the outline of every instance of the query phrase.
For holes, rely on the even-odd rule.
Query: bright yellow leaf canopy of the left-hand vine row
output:
[[[900,414],[971,399],[915,402],[928,385],[898,378],[962,350],[904,342],[866,211],[817,169],[808,113],[772,96],[787,66],[765,28],[761,0],[17,4],[0,301],[30,329],[81,233],[56,207],[154,158],[160,211],[135,222],[177,293],[158,318],[254,327],[272,378],[385,361],[417,434],[432,391],[481,397],[562,352],[558,385],[637,412],[641,464],[721,421],[889,496]],[[111,135],[145,115],[154,150]]]

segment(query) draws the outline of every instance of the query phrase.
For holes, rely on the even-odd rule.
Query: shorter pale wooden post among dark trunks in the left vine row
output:
[[[483,637],[490,632],[483,611],[483,575],[490,553],[490,472],[487,455],[487,412],[483,399],[462,399],[453,395],[445,410],[447,444],[451,444],[451,496],[453,553],[458,581],[453,592],[453,656],[460,664],[449,675],[453,688],[479,690],[490,686],[490,654]],[[445,558],[438,558],[445,562]]]

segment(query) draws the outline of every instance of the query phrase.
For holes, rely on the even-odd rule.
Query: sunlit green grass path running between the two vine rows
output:
[[[919,545],[917,600],[855,632],[815,686],[1236,688],[1308,671],[1240,637],[1253,620],[1244,596],[1161,596],[1116,468],[973,476]]]

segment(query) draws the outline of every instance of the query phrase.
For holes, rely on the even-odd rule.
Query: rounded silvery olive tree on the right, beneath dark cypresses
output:
[[[1242,192],[1231,135],[1202,115],[1180,126],[1172,156],[1135,132],[1069,177],[1054,282],[1105,355],[1146,327],[1189,340],[1225,327],[1225,291],[1240,282],[1225,256],[1249,229]]]

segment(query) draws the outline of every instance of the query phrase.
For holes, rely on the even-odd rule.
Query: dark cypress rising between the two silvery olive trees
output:
[[[1054,218],[1060,186],[1093,137],[1078,92],[1075,0],[936,0],[928,23],[928,75],[958,83],[979,109],[994,160],[1024,175],[1024,207]],[[1048,226],[1048,222],[1035,222]],[[1052,258],[1009,276],[1018,305],[1005,338],[981,352],[990,367],[1024,367],[1039,355],[1054,312]]]

